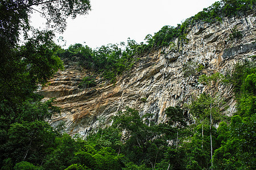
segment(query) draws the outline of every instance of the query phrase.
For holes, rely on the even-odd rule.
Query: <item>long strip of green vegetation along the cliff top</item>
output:
[[[78,62],[80,66],[85,67],[96,74],[103,76],[106,80],[115,82],[117,75],[123,71],[129,70],[133,67],[134,62],[138,57],[145,53],[150,53],[151,50],[156,50],[161,46],[172,46],[174,50],[180,51],[187,40],[187,33],[189,27],[193,27],[200,22],[221,22],[225,17],[242,16],[254,12],[256,5],[255,0],[224,0],[213,3],[212,6],[204,8],[195,16],[186,19],[177,27],[166,25],[156,32],[154,36],[147,35],[145,37],[146,43],[138,44],[134,40],[127,40],[121,44],[103,45],[95,50],[88,46],[75,44],[69,46],[66,50],[60,50],[58,56],[61,59],[69,59]],[[240,32],[233,30],[230,39],[241,37]],[[177,44],[174,44],[174,39],[178,39]]]

